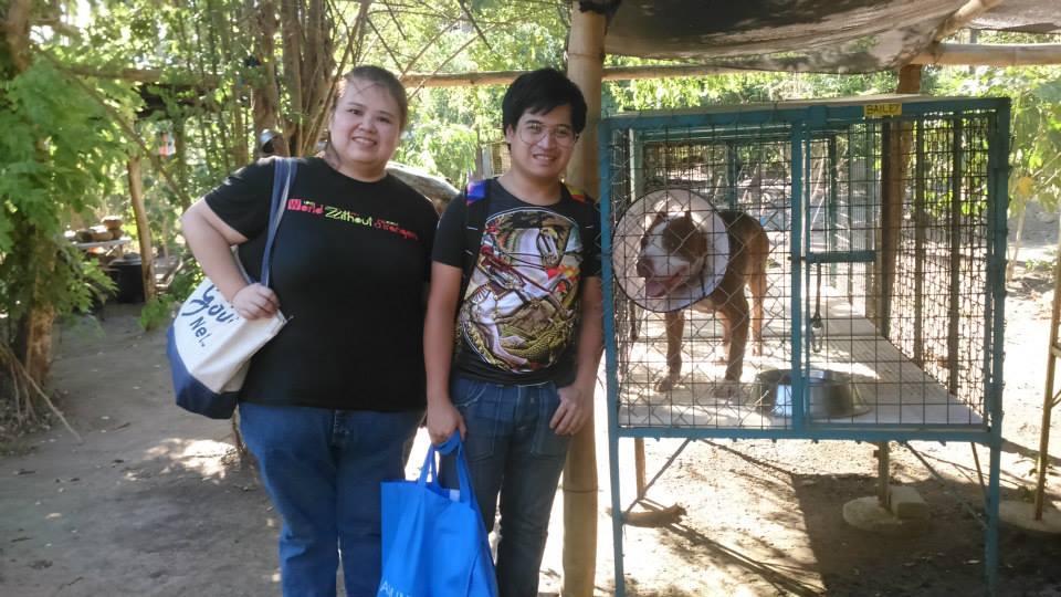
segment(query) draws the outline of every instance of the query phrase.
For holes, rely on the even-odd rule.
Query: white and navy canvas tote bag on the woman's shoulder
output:
[[[269,285],[273,241],[296,170],[295,160],[291,158],[276,158],[273,164],[273,196],[262,256],[261,283],[265,286]],[[243,276],[252,281],[245,271]],[[213,282],[204,279],[180,305],[169,327],[166,354],[174,376],[177,406],[211,419],[231,417],[251,357],[286,323],[280,311],[272,317],[244,320],[221,296]]]

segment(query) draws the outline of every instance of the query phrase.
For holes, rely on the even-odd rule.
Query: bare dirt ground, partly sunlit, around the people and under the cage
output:
[[[1027,498],[1038,449],[1057,221],[1029,216],[1018,279],[1007,298],[1004,499]],[[143,333],[134,306],[107,306],[99,326],[64,326],[51,386],[84,439],[61,426],[8,442],[0,457],[0,595],[229,597],[279,595],[279,520],[241,465],[227,422],[172,405],[165,333]],[[606,419],[598,389],[597,595],[613,591]],[[1054,419],[1050,454],[1061,454]],[[647,442],[650,473],[680,440]],[[983,511],[967,443],[893,444],[894,482],[927,501],[917,538],[889,538],[843,522],[842,506],[876,490],[873,447],[854,442],[694,442],[649,492],[686,515],[627,526],[627,589],[638,596],[977,595],[985,590]],[[413,449],[410,473],[422,458]],[[623,503],[633,449],[621,444]],[[419,455],[418,455],[419,454]],[[983,448],[979,462],[986,467]],[[1061,502],[1057,476],[1049,491]],[[542,568],[560,586],[561,498]],[[1001,531],[1000,594],[1061,596],[1061,537]]]

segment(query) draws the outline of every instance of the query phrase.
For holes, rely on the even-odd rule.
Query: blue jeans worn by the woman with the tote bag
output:
[[[346,594],[376,597],[379,483],[405,476],[422,416],[240,404],[243,440],[283,519],[285,596],[333,597],[342,551]]]

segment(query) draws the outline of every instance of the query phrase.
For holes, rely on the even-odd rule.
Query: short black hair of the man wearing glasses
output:
[[[586,98],[578,85],[556,69],[538,69],[519,75],[501,102],[501,128],[516,128],[524,113],[545,114],[568,104],[571,106],[571,127],[575,133],[586,128]]]

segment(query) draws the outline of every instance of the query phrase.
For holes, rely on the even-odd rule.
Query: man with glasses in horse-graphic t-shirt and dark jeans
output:
[[[534,71],[508,87],[502,109],[511,168],[470,185],[435,233],[428,430],[435,443],[455,430],[464,437],[487,530],[501,498],[501,595],[535,597],[570,437],[592,416],[599,217],[560,181],[586,125],[578,87],[555,70]]]

